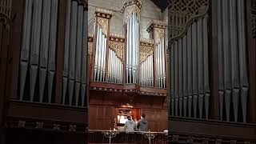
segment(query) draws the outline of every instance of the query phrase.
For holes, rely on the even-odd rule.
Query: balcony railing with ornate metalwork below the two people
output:
[[[168,132],[134,131],[126,133],[118,130],[89,130],[89,143],[136,143],[166,144]]]

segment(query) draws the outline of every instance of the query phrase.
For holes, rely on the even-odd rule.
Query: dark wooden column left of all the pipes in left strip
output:
[[[22,18],[25,0],[15,1],[12,3],[12,13],[10,19],[12,24],[10,26],[10,42],[8,52],[8,67],[6,75],[6,98],[18,98],[18,72],[19,59],[22,44]],[[8,96],[7,96],[8,95]]]

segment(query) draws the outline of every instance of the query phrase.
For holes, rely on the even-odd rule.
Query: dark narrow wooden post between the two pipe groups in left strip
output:
[[[66,4],[67,1],[58,2],[57,50],[56,50],[56,86],[55,99],[58,104],[62,102],[62,71],[64,68],[65,31],[66,31]]]

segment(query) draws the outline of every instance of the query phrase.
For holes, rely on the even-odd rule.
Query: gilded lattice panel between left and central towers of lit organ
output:
[[[114,50],[115,54],[123,61],[124,42],[110,41],[110,49]]]

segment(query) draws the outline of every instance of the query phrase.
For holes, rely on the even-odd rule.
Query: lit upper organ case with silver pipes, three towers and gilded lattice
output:
[[[115,87],[118,91],[142,92],[142,87],[152,87],[166,90],[166,23],[152,20],[147,30],[150,38],[141,38],[141,8],[142,2],[138,0],[124,2],[124,35],[110,33],[110,10],[96,9],[94,34],[89,35],[88,41],[90,89]],[[99,88],[103,85],[107,86]],[[166,91],[144,92],[166,95]]]

